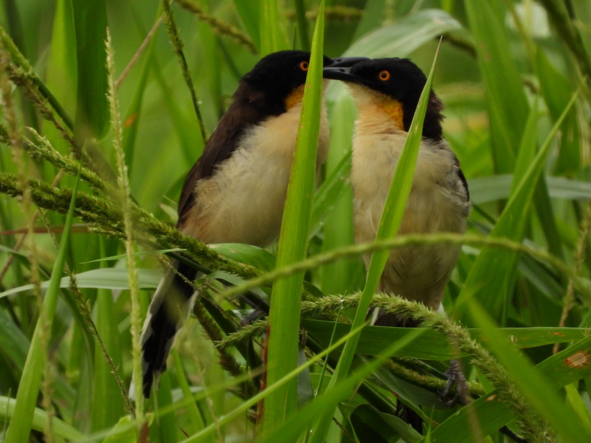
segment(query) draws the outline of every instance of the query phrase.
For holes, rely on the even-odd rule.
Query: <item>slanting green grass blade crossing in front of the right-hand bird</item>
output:
[[[392,178],[388,197],[384,206],[384,212],[382,213],[382,218],[379,222],[376,240],[394,237],[397,234],[398,227],[400,227],[402,221],[408,195],[410,194],[410,189],[413,184],[418,150],[421,144],[421,139],[423,138],[423,122],[427,111],[428,97],[431,93],[431,82],[433,81],[433,73],[437,63],[437,53],[434,57],[431,71],[427,77],[427,83],[425,84],[421,97],[418,100],[417,110],[415,111],[413,122],[408,131],[408,136],[404,142],[404,146],[402,146],[402,152],[394,172],[394,177]],[[351,326],[352,328],[360,327],[365,321],[369,303],[378,288],[379,279],[382,275],[382,271],[384,271],[388,255],[389,250],[380,250],[374,252],[371,256],[365,288],[363,288],[363,293],[359,300],[359,306],[355,312],[355,318],[353,319],[353,324]],[[345,349],[339,359],[339,363],[337,364],[335,374],[330,380],[329,387],[333,387],[337,382],[340,382],[347,377],[353,361],[353,356],[357,349],[358,341],[359,335],[355,335],[351,340],[347,341]],[[322,418],[319,421],[319,425],[313,431],[310,439],[311,443],[320,443],[324,441],[326,438],[326,432],[328,431],[328,425],[332,420],[333,412],[334,409],[327,409],[324,411]]]

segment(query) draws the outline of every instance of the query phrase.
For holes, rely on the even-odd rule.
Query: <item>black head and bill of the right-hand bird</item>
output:
[[[359,61],[351,67],[324,67],[323,76],[360,84],[376,96],[385,96],[400,103],[404,131],[410,128],[418,99],[427,82],[423,71],[407,58],[375,58]],[[442,108],[441,100],[431,90],[423,136],[441,139]]]

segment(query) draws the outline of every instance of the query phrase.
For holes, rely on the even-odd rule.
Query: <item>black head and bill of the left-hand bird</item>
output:
[[[323,66],[351,66],[359,60],[323,57]],[[310,53],[306,51],[269,54],[242,77],[236,94],[247,94],[251,100],[264,104],[269,115],[278,115],[301,100],[309,64]]]

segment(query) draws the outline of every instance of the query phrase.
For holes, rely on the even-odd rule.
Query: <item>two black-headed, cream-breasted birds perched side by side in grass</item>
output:
[[[310,54],[303,51],[273,53],[242,77],[232,104],[187,175],[178,203],[181,232],[208,244],[265,247],[277,240],[309,60]],[[346,82],[358,108],[351,170],[354,221],[356,241],[369,242],[375,239],[426,77],[401,58],[324,57],[323,65],[324,78]],[[401,234],[466,229],[469,194],[459,162],[442,137],[441,108],[431,92]],[[326,159],[328,144],[323,106],[317,167]],[[459,252],[454,245],[394,250],[379,290],[438,309]],[[369,265],[369,256],[365,260]],[[191,310],[194,289],[187,281],[196,273],[173,261],[152,299],[141,339],[147,398]],[[394,321],[391,315],[378,315],[376,324]]]

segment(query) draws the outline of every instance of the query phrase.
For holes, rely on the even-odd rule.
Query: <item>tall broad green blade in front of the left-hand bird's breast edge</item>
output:
[[[316,178],[316,152],[322,105],[322,47],[324,41],[324,2],[320,4],[312,39],[310,69],[291,170],[287,201],[281,223],[277,267],[306,258],[308,233]],[[300,302],[303,272],[275,282],[269,313],[267,383],[272,385],[297,366]],[[271,431],[296,408],[297,380],[281,387],[265,399],[263,429]]]

